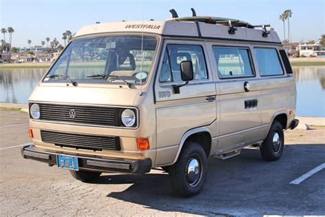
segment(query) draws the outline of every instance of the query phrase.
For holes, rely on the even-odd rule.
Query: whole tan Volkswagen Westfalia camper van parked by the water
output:
[[[255,146],[279,159],[296,83],[268,28],[207,16],[82,27],[29,98],[23,157],[84,182],[163,168],[181,196],[202,190],[210,157]]]

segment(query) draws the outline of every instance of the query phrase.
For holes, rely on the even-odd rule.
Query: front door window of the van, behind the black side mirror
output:
[[[193,80],[206,80],[208,73],[203,49],[200,45],[167,45],[160,69],[160,82],[180,82],[180,62],[192,61]]]

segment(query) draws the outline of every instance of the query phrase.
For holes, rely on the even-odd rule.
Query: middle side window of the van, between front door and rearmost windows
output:
[[[213,47],[220,78],[254,76],[249,50],[235,47]]]

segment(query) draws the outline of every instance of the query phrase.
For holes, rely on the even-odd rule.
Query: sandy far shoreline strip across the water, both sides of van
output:
[[[289,58],[291,66],[325,66],[323,57]],[[47,69],[53,62],[0,63],[0,69]]]

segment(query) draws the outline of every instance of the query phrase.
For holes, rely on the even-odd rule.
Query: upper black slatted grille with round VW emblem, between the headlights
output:
[[[54,122],[117,126],[113,107],[39,104],[40,119]],[[71,113],[74,116],[71,117]]]

